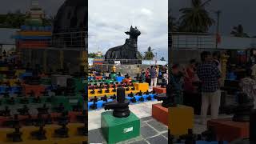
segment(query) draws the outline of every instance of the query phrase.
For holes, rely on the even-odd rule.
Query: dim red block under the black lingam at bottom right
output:
[[[249,138],[249,122],[233,122],[230,118],[215,119],[207,122],[217,134],[218,140],[234,141],[238,138]]]

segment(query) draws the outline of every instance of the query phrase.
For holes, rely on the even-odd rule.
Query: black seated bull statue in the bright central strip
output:
[[[122,64],[141,64],[138,60],[138,36],[141,32],[137,27],[130,26],[130,31],[126,34],[130,35],[130,38],[126,38],[126,43],[122,46],[116,46],[107,50],[105,54],[105,60],[108,63],[114,63],[114,60],[121,61]]]

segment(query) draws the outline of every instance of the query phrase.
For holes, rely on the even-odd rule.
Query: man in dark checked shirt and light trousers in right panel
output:
[[[204,51],[201,54],[202,63],[198,66],[198,78],[202,82],[202,124],[206,124],[206,117],[209,105],[211,118],[218,118],[218,109],[221,100],[220,78],[221,73],[212,61],[210,52]]]

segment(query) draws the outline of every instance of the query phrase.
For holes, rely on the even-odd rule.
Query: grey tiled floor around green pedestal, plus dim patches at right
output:
[[[167,126],[156,121],[151,117],[152,104],[160,102],[143,102],[140,104],[130,105],[130,110],[141,119],[141,135],[119,144],[144,144],[144,143],[168,143]],[[104,110],[90,111],[88,119],[89,143],[106,143],[100,130],[100,114]],[[229,115],[220,115],[220,118],[230,118]],[[201,134],[206,130],[206,125],[200,124],[200,117],[194,116],[194,134]]]

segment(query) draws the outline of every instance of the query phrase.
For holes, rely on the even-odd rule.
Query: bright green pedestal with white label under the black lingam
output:
[[[109,144],[122,142],[140,134],[140,120],[130,112],[127,118],[115,118],[112,111],[102,113],[102,134]]]

